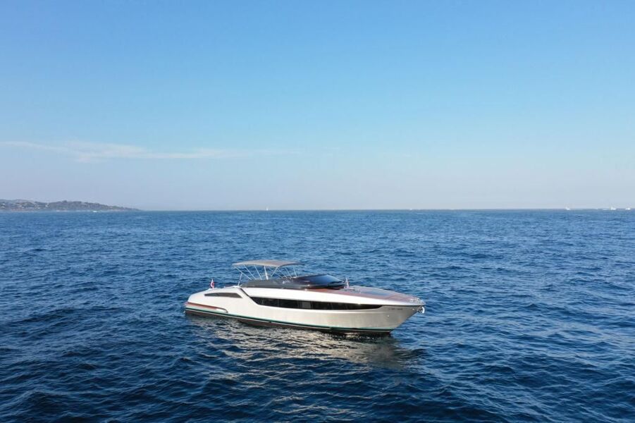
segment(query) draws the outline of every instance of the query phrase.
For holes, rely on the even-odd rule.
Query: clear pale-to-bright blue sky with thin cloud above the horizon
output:
[[[0,2],[0,198],[635,207],[633,1]]]

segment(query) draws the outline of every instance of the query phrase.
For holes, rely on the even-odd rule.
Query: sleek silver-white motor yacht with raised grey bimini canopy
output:
[[[234,263],[233,286],[190,295],[185,312],[230,317],[249,324],[340,333],[390,333],[425,311],[419,298],[390,290],[349,286],[328,274],[298,273],[299,262],[249,260]]]

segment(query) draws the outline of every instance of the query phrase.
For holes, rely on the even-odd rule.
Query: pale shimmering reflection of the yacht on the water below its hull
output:
[[[348,360],[373,367],[402,369],[424,354],[409,350],[392,336],[345,335],[282,327],[252,326],[233,319],[187,314],[195,335],[209,348],[222,348],[237,360]]]

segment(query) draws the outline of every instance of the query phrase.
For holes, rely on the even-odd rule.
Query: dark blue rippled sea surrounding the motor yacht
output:
[[[390,336],[190,317],[232,262],[427,303]],[[635,212],[0,214],[1,422],[633,422]]]

